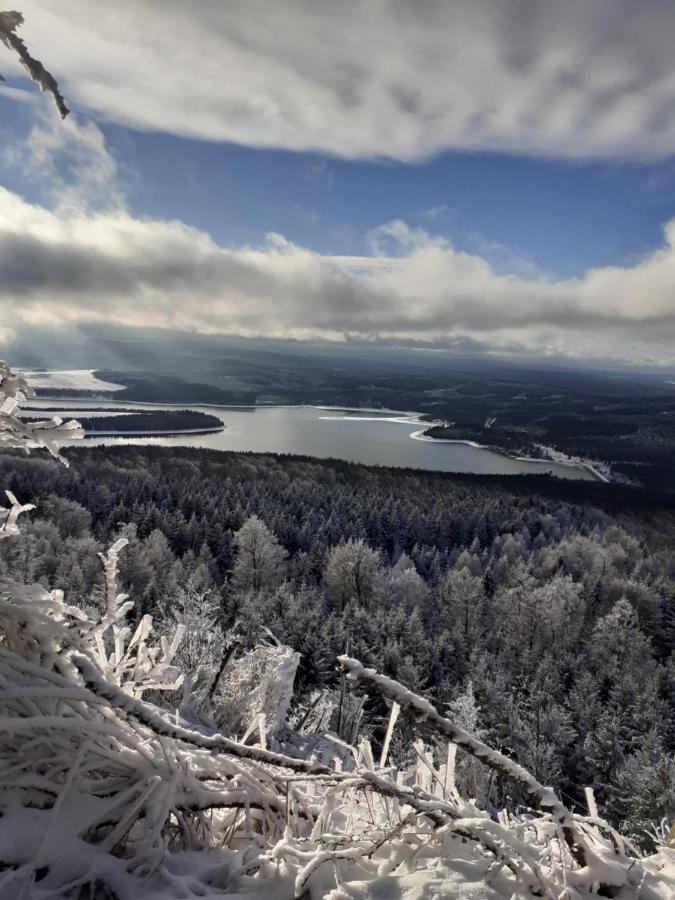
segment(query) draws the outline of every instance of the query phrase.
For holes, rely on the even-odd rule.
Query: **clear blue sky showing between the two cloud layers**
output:
[[[0,97],[2,134],[20,142],[32,110]],[[488,255],[500,271],[531,264],[552,277],[624,265],[663,242],[675,215],[675,163],[569,161],[445,152],[408,163],[259,150],[101,124],[138,215],[179,218],[224,244],[269,231],[323,254],[369,252],[392,219]],[[41,199],[40,179],[0,168],[2,183]],[[494,246],[493,246],[494,245]]]

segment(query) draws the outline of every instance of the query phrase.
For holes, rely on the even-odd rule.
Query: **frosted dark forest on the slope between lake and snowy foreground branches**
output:
[[[195,634],[236,629],[238,652],[268,628],[301,654],[296,716],[317,730],[383,738],[381,701],[362,709],[341,686],[335,659],[347,651],[451,709],[572,805],[593,787],[641,846],[672,817],[666,508],[602,486],[595,504],[574,502],[578,486],[537,479],[188,449],[69,455],[70,470],[0,459],[2,483],[38,507],[20,545],[0,546],[4,574],[86,604],[103,589],[97,554],[125,537],[134,615],[187,617]],[[217,646],[204,651],[212,666]],[[403,721],[394,737],[401,761],[411,729]],[[514,799],[480,768],[460,774],[482,803]]]

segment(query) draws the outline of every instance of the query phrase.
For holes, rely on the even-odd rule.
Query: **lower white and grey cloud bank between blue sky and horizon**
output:
[[[371,242],[379,255],[362,258],[276,234],[227,248],[177,221],[49,211],[0,189],[0,327],[109,322],[675,363],[675,221],[638,264],[573,281],[498,275],[402,221]]]

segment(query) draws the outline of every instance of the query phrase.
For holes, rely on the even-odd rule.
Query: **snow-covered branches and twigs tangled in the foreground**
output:
[[[133,604],[116,585],[124,545],[101,554],[99,615],[68,606],[60,591],[0,584],[0,896],[290,900],[405,889],[421,897],[437,884],[457,896],[586,900],[600,889],[629,897],[642,883],[667,896],[668,883],[595,810],[556,806],[548,789],[463,732],[440,729],[527,780],[541,793],[539,812],[495,818],[460,796],[454,755],[436,759],[422,742],[413,765],[396,770],[362,740],[347,770],[266,749],[264,728],[256,745],[255,730],[249,744],[189,727],[161,705],[160,689],[178,683],[181,629],[154,644],[149,618],[129,625]],[[274,649],[284,656],[286,648]],[[250,690],[242,673],[260,673],[263,659],[254,651],[231,679],[242,704]],[[437,724],[428,701],[341,662],[404,712]],[[143,698],[149,688],[153,703]],[[344,746],[337,741],[336,756]]]

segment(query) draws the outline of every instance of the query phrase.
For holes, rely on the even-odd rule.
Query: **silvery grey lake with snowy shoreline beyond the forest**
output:
[[[87,410],[105,407],[142,410],[172,408],[170,404],[142,404],[119,401],[53,400],[45,398],[25,404],[58,407],[64,418],[92,415]],[[237,450],[269,453],[294,453],[334,457],[365,465],[400,466],[442,472],[473,472],[486,475],[520,475],[552,472],[560,478],[595,480],[583,466],[555,462],[511,459],[483,447],[465,443],[420,439],[428,423],[414,414],[382,411],[320,409],[311,406],[274,406],[231,408],[176,404],[178,409],[194,409],[217,416],[225,426],[214,434],[183,434],[166,437],[87,437],[89,446],[112,444],[158,445],[164,447],[205,447],[211,450]],[[49,415],[53,415],[50,413]],[[82,443],[82,442],[77,442]]]

